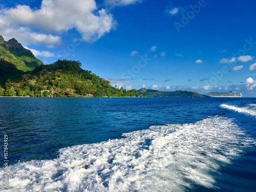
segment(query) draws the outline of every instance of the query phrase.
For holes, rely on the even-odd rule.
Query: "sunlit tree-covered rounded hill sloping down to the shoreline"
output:
[[[5,74],[7,72],[10,71],[6,70]],[[2,83],[1,96],[122,97],[136,96],[137,93],[137,90],[112,87],[110,81],[98,77],[91,71],[81,69],[81,63],[73,60],[58,60],[20,75],[17,79],[8,79],[4,84]]]

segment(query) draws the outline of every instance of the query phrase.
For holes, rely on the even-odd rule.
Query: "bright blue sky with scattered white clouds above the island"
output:
[[[256,2],[0,0],[0,35],[124,89],[256,97]]]

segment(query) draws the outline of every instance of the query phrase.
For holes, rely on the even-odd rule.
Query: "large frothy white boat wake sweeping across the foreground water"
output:
[[[7,191],[183,191],[214,187],[212,172],[251,140],[231,119],[152,126],[125,138],[62,148],[57,159],[9,167]],[[4,178],[4,171],[0,177]],[[4,190],[4,186],[0,186]]]

